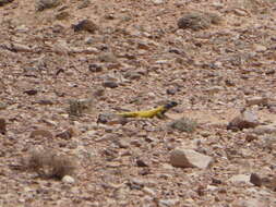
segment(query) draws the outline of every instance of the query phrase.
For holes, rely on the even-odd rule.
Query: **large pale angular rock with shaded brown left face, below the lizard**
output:
[[[176,148],[170,154],[170,163],[173,167],[206,169],[212,162],[212,157],[199,154],[192,149]]]

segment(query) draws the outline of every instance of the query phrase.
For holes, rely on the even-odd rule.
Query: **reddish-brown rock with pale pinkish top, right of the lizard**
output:
[[[257,117],[252,111],[243,111],[240,115],[232,119],[228,125],[227,130],[242,130],[255,127],[260,124]]]

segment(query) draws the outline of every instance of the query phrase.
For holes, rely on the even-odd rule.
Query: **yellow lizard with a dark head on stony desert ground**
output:
[[[178,104],[176,101],[170,101],[167,105],[157,107],[155,109],[152,110],[146,110],[146,111],[130,111],[130,112],[121,112],[121,113],[117,113],[118,115],[121,115],[123,118],[154,118],[157,117],[159,119],[165,118],[165,113],[176,107]]]

